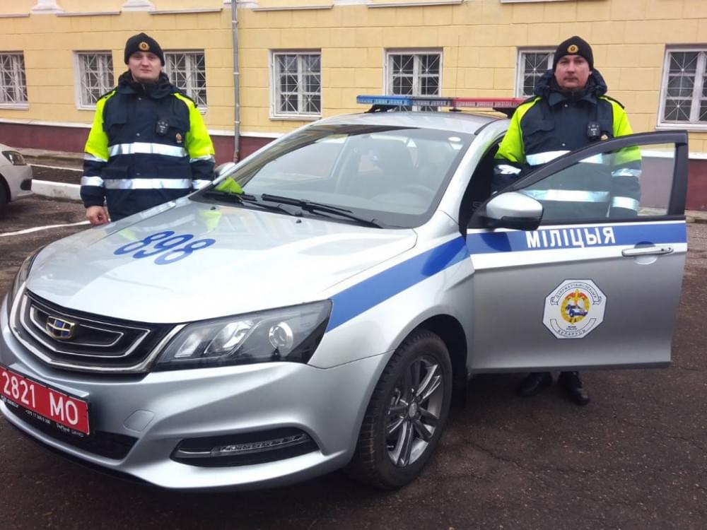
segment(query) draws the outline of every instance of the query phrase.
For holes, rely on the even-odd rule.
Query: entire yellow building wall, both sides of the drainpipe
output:
[[[383,0],[376,0],[380,3]],[[3,0],[0,13],[26,14],[36,0]],[[411,2],[410,2],[411,3]],[[58,0],[66,12],[118,11],[124,0]],[[0,51],[23,51],[28,110],[0,109],[0,119],[88,124],[78,110],[73,52],[110,50],[115,79],[122,50],[145,31],[163,49],[204,49],[210,129],[233,130],[233,54],[230,5],[222,0],[153,0],[156,10],[218,12],[113,16],[0,17]],[[247,4],[252,5],[252,4]],[[440,49],[442,95],[513,96],[519,47],[554,47],[581,35],[609,94],[626,105],[636,131],[655,129],[666,45],[707,45],[707,0],[569,0],[458,5],[337,5],[334,0],[261,0],[238,8],[241,130],[274,134],[302,121],[270,116],[271,50],[320,50],[322,114],[361,112],[356,95],[382,93],[386,49]],[[300,6],[315,9],[298,9]],[[707,134],[691,134],[691,151],[707,152]]]

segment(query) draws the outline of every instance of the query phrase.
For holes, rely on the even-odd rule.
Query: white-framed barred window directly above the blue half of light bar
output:
[[[440,95],[442,52],[388,52],[385,93]]]

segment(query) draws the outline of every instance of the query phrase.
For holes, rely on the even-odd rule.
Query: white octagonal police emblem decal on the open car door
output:
[[[565,280],[547,298],[542,323],[557,338],[584,338],[604,321],[607,297],[591,280]]]

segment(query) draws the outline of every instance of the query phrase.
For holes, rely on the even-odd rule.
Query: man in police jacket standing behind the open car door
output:
[[[555,51],[552,69],[539,79],[534,96],[515,110],[503,138],[493,170],[493,192],[559,155],[615,136],[632,134],[624,107],[605,95],[607,85],[594,69],[592,48],[574,36]],[[561,183],[562,189],[533,189],[548,218],[632,217],[640,199],[640,155],[629,148],[619,165],[604,172],[597,167],[577,172]],[[591,166],[591,164],[583,164]],[[580,213],[577,213],[580,211]],[[533,396],[552,383],[549,372],[534,372],[522,379],[518,393]],[[578,405],[589,403],[578,372],[561,372],[558,384]]]

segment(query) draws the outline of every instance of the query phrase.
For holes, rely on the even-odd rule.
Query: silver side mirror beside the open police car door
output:
[[[498,194],[479,213],[490,228],[535,230],[542,220],[542,204],[519,192]]]

